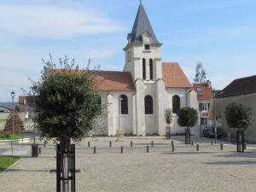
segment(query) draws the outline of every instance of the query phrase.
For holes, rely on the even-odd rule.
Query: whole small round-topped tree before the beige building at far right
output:
[[[241,102],[231,102],[225,108],[225,119],[236,131],[237,152],[244,152],[244,131],[252,125],[252,109]]]

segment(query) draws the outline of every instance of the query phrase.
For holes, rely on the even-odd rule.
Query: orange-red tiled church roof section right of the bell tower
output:
[[[166,83],[166,87],[174,88],[191,88],[186,75],[183,73],[181,67],[177,62],[163,62],[162,63],[163,78]]]

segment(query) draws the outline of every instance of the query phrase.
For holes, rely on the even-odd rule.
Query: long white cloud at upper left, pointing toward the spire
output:
[[[122,30],[95,9],[0,4],[0,30],[25,37],[72,38]]]

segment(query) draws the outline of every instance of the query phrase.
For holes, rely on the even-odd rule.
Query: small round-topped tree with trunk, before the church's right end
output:
[[[190,128],[195,126],[198,120],[198,113],[194,108],[184,107],[177,113],[177,124],[185,128],[185,144],[190,144]]]

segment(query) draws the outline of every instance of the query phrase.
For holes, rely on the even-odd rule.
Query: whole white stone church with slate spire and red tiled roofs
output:
[[[154,34],[143,3],[127,40],[123,72],[96,72],[96,90],[106,109],[97,133],[163,136],[167,108],[173,113],[172,133],[183,132],[177,125],[177,111],[186,106],[198,109],[196,93],[191,91],[192,85],[177,62],[162,61],[162,44]]]

